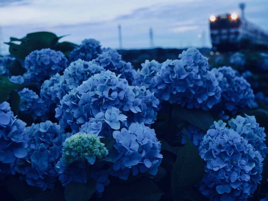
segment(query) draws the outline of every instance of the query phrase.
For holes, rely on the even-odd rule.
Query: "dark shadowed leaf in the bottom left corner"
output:
[[[8,179],[2,185],[8,188],[8,191],[18,200],[33,199],[36,195],[42,192],[41,188],[28,185],[21,179]]]

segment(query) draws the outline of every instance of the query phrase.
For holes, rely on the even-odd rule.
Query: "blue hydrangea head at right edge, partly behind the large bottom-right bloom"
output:
[[[235,119],[232,118],[228,124],[231,129],[244,137],[244,139],[265,158],[268,153],[268,147],[265,145],[266,134],[264,128],[259,127],[254,116],[248,116],[247,114],[245,114],[245,116],[246,117],[237,116]]]

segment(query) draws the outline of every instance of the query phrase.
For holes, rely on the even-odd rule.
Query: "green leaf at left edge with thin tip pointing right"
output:
[[[0,75],[0,103],[9,99],[10,93],[17,88],[28,86],[29,84],[14,84],[5,76]]]

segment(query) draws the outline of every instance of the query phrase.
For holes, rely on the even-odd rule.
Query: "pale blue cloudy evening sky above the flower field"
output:
[[[50,31],[80,44],[85,38],[118,49],[118,25],[123,49],[211,47],[209,17],[240,14],[241,1],[223,0],[0,0],[0,50],[8,53],[9,37]],[[268,32],[268,1],[244,0],[245,17]]]

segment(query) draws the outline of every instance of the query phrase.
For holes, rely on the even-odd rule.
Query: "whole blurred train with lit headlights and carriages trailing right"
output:
[[[215,51],[268,49],[268,34],[243,15],[227,13],[210,16],[209,22],[212,49]]]

